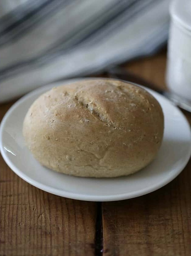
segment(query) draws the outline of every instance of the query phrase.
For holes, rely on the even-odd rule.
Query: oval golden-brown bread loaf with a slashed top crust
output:
[[[136,85],[81,80],[41,95],[23,123],[26,145],[44,166],[83,177],[117,177],[149,164],[161,145],[157,100]]]

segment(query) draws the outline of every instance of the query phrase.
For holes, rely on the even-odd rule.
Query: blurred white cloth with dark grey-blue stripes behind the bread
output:
[[[0,0],[0,102],[153,54],[169,0]]]

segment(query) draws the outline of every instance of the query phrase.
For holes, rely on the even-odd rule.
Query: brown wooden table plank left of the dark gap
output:
[[[0,118],[11,104],[0,105]],[[31,186],[0,156],[0,255],[94,255],[96,211]]]

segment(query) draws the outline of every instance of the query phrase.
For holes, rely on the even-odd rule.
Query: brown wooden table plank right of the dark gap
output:
[[[165,88],[166,54],[134,61],[127,70]],[[191,123],[191,114],[184,112]],[[103,248],[109,255],[191,255],[191,161],[170,184],[148,195],[104,202]]]

